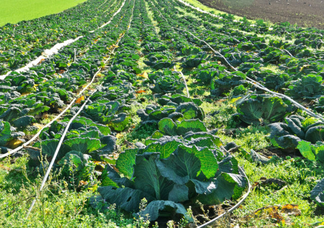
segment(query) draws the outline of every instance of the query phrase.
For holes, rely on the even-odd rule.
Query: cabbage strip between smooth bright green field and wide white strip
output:
[[[57,43],[98,29],[123,3],[104,2],[87,1],[59,14],[1,27],[0,74],[26,65]]]

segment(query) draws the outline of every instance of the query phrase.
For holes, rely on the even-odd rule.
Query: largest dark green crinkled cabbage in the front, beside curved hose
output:
[[[109,203],[116,203],[129,212],[138,212],[145,197],[146,209],[135,216],[149,214],[150,220],[157,219],[159,212],[184,215],[182,203],[188,200],[219,204],[239,197],[246,182],[241,175],[231,173],[237,170],[237,163],[229,162],[225,171],[221,160],[233,158],[223,155],[216,144],[196,146],[199,140],[205,137],[184,140],[165,136],[146,147],[125,151],[116,164],[119,172],[128,178],[121,178],[107,165],[102,179],[106,186],[99,187],[99,193]]]

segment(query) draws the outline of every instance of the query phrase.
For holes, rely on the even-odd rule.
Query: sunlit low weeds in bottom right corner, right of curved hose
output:
[[[310,224],[323,221],[320,210],[313,202],[309,201],[309,192],[316,184],[316,180],[323,177],[322,167],[300,158],[276,158],[266,165],[257,165],[237,155],[238,163],[244,166],[246,173],[253,184],[260,181],[261,177],[278,178],[286,181],[287,187],[278,187],[275,184],[254,188],[241,208],[234,215],[243,217],[253,214],[253,211],[264,206],[284,206],[296,204],[301,210],[300,216],[284,215],[284,226],[309,227]],[[269,226],[270,218],[251,218],[240,222],[240,226],[262,227]]]

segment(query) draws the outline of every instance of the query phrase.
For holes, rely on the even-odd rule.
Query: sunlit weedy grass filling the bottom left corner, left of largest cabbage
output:
[[[55,175],[39,194],[42,176],[30,168],[27,156],[1,161],[1,227],[136,227],[136,220],[125,218],[114,205],[100,205],[104,211],[89,206],[93,190],[73,191]],[[35,195],[38,200],[26,218]]]

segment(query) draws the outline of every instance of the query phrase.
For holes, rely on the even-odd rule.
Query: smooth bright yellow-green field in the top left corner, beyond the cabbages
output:
[[[60,13],[86,0],[2,0],[0,26]]]

